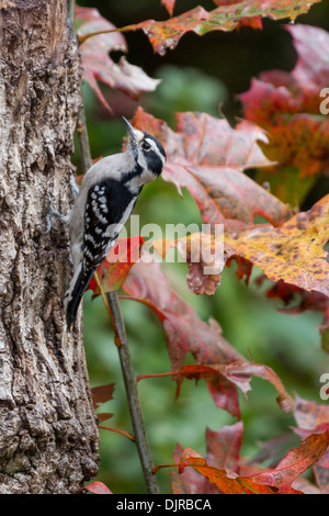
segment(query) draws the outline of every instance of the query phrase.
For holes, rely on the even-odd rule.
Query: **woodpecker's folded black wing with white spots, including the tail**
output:
[[[76,321],[81,298],[129,217],[137,195],[115,180],[92,186],[87,195],[82,259],[67,293],[67,324]]]

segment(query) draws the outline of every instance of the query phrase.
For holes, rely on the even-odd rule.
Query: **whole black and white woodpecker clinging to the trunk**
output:
[[[77,316],[83,292],[114,245],[147,182],[156,179],[166,153],[154,136],[124,119],[128,142],[124,153],[97,161],[83,177],[69,215],[73,274],[65,296],[67,324]]]

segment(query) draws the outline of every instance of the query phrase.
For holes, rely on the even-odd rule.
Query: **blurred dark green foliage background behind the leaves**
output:
[[[79,0],[78,3],[99,9],[116,26],[147,19],[168,19],[160,0]],[[207,10],[215,7],[211,0],[177,0],[174,15],[197,4]],[[329,31],[329,1],[314,5],[297,21]],[[101,85],[114,111],[113,116],[104,110],[89,86],[83,85],[93,158],[121,149],[125,135],[121,116],[132,117],[138,104],[166,120],[173,130],[175,112],[179,111],[203,111],[215,116],[223,112],[229,121],[241,115],[236,96],[249,89],[252,77],[274,68],[292,70],[296,63],[296,53],[290,34],[282,27],[283,22],[265,19],[263,25],[263,31],[243,27],[238,32],[214,32],[202,37],[189,33],[174,51],[169,51],[163,57],[154,54],[141,32],[125,34],[128,61],[140,66],[149,76],[162,79],[162,82],[156,92],[144,94],[139,102]],[[111,57],[118,60],[121,54],[114,53]],[[73,162],[81,173],[78,145]],[[302,209],[308,209],[328,191],[328,178],[320,179]],[[162,179],[144,189],[134,213],[139,214],[140,224],[158,223],[163,228],[167,223],[201,223],[198,209],[189,192],[184,190],[181,198],[175,187]],[[220,287],[211,298],[195,296],[186,289],[184,263],[164,263],[163,268],[180,296],[191,303],[203,319],[215,317],[224,337],[241,355],[273,368],[291,394],[326,403],[319,399],[319,378],[329,372],[328,356],[320,348],[317,329],[321,314],[292,316],[280,313],[280,302],[268,300],[263,294],[270,283],[262,288],[256,285],[254,278],[260,276],[256,268],[249,288],[236,278],[235,267],[226,269]],[[122,301],[122,309],[136,375],[170,371],[163,330],[154,313],[147,306],[128,300]],[[101,411],[113,413],[105,424],[132,431],[113,332],[102,301],[92,301],[90,292],[84,296],[84,343],[91,385],[115,383],[114,400]],[[262,441],[282,435],[286,436],[282,453],[298,446],[299,439],[290,429],[295,424],[294,418],[280,410],[274,388],[259,379],[253,379],[251,385],[248,400],[240,396],[245,426],[242,455],[253,457]],[[178,401],[174,400],[175,384],[170,377],[140,381],[139,393],[156,464],[172,463],[172,450],[178,442],[204,455],[206,427],[218,430],[223,425],[236,422],[215,407],[203,381],[195,385],[184,380]],[[145,493],[135,445],[118,434],[100,431],[98,480],[116,494]],[[171,492],[169,471],[160,470],[158,473],[163,493]]]

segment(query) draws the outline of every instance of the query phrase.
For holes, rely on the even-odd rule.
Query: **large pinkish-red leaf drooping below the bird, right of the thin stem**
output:
[[[178,296],[159,263],[136,263],[122,288],[159,316],[173,371],[181,369],[189,351],[198,363],[226,363],[242,359],[222,336],[222,328],[215,319],[205,323],[191,305]],[[216,385],[213,382],[208,388],[217,406],[240,416],[237,390],[230,381],[218,375]]]

